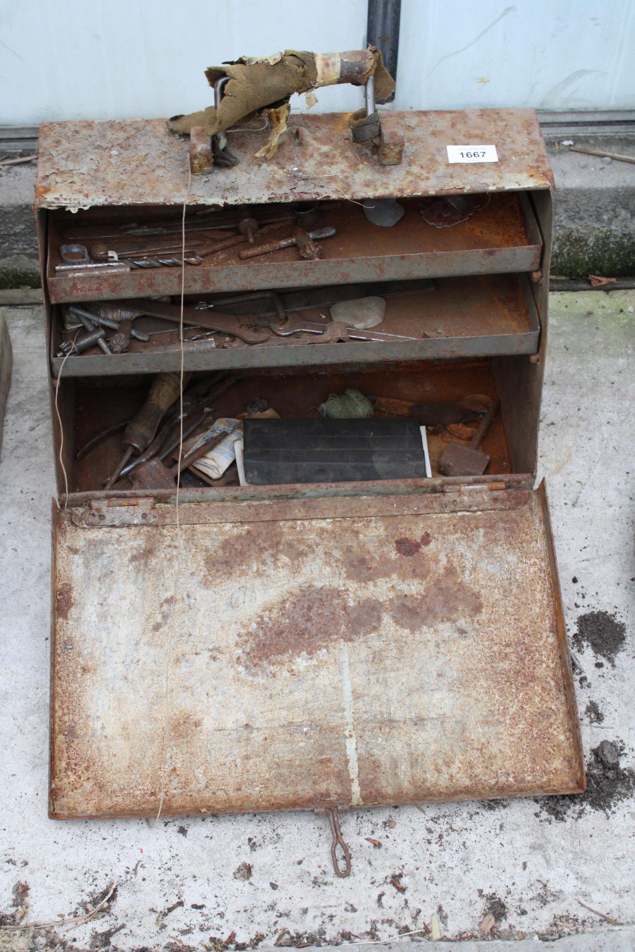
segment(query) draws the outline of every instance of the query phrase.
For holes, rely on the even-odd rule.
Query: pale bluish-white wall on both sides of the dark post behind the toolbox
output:
[[[634,8],[402,0],[396,108],[633,109]],[[358,49],[366,17],[366,0],[0,0],[0,123],[201,109],[206,67],[281,48]],[[350,87],[319,100],[362,105]]]

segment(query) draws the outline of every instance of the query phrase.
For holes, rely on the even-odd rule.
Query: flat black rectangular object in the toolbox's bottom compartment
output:
[[[419,424],[247,418],[245,477],[256,486],[426,477]]]

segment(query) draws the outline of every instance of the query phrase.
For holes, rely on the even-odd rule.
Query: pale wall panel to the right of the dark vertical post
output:
[[[634,0],[402,0],[398,109],[635,109]]]

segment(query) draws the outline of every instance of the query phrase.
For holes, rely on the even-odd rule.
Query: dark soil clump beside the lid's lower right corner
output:
[[[621,741],[603,741],[591,751],[586,762],[586,789],[564,797],[540,797],[536,803],[540,812],[553,820],[579,820],[587,809],[602,810],[608,815],[616,803],[635,794],[635,771],[621,767],[620,758],[625,752]]]

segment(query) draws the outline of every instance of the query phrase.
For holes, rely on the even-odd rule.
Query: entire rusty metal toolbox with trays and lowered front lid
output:
[[[291,117],[267,162],[253,158],[266,132],[233,133],[238,166],[192,177],[192,213],[316,202],[337,233],[317,261],[293,248],[241,261],[228,249],[185,268],[185,292],[195,302],[430,279],[427,294],[387,299],[384,327],[415,339],[202,341],[185,345],[185,369],[240,371],[224,415],[255,395],[300,415],[345,387],[405,401],[498,397],[488,471],[441,476],[445,444],[430,437],[429,479],[183,487],[178,516],[171,490],[102,488],[118,437],[75,460],[141,405],[151,374],[179,368],[173,332],[64,367],[56,353],[60,305],[177,296],[182,269],[55,265],[75,226],[180,221],[187,143],[159,120],[41,129],[35,208],[58,486],[51,817],[584,789],[546,487],[534,487],[553,197],[543,139],[528,109],[395,121],[406,144],[390,167],[351,142],[341,115]],[[495,144],[498,161],[449,164],[446,146],[470,142]],[[426,197],[470,194],[488,196],[486,207],[456,228],[423,222]],[[376,228],[362,203],[387,197],[404,218]]]

